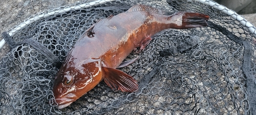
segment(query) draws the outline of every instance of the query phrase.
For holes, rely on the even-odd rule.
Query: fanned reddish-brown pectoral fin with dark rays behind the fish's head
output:
[[[115,68],[102,67],[104,71],[104,81],[112,89],[117,88],[121,91],[133,92],[138,90],[138,84],[132,76],[125,74]]]

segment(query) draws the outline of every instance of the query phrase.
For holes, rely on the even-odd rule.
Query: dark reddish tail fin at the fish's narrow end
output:
[[[182,16],[182,29],[207,26],[208,15],[192,12],[179,12]]]

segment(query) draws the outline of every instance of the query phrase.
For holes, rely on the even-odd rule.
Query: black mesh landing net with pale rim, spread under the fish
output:
[[[50,105],[59,65],[78,37],[136,4],[210,19],[207,27],[161,31],[129,55],[139,58],[120,70],[138,81],[138,91],[101,81],[66,108]],[[206,0],[83,1],[47,10],[3,33],[11,50],[0,61],[0,114],[253,114],[255,33],[242,16]]]

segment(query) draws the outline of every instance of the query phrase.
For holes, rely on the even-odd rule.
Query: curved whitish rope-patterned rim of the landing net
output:
[[[110,3],[110,2],[115,2],[116,0],[97,0],[94,2],[90,2],[90,3],[85,3],[85,4],[81,4],[81,5],[77,5],[77,6],[73,6],[73,7],[69,7],[69,8],[64,8],[62,10],[57,10],[57,11],[53,11],[53,12],[49,12],[49,13],[45,13],[45,14],[40,14],[38,16],[34,16],[33,18],[29,18],[26,19],[24,22],[20,23],[16,28],[12,29],[10,32],[8,32],[8,34],[10,36],[13,36],[17,33],[18,30],[22,30],[23,28],[25,28],[27,25],[33,24],[36,21],[39,21],[41,19],[45,19],[47,17],[50,17],[52,15],[56,15],[56,14],[60,14],[60,13],[65,13],[71,10],[80,10],[80,9],[87,9],[90,8],[92,6],[98,6],[98,5],[102,5],[102,4],[106,4],[106,3]],[[189,1],[189,0],[188,0]],[[253,26],[253,24],[249,21],[247,21],[242,15],[237,14],[235,11],[228,9],[227,7],[220,5],[214,1],[210,1],[210,0],[191,0],[191,1],[195,1],[195,2],[199,2],[202,3],[204,5],[207,6],[211,6],[212,8],[221,11],[224,14],[229,15],[231,18],[238,20],[239,23],[242,26],[245,26],[249,32],[256,37],[256,27]],[[59,7],[61,8],[61,7]],[[4,47],[4,45],[6,44],[5,39],[2,39],[0,41],[0,50]]]

